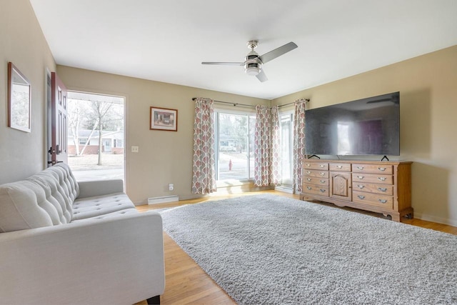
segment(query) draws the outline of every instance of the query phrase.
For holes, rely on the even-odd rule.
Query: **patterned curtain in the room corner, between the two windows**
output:
[[[256,106],[254,133],[254,185],[279,184],[280,143],[278,106]]]

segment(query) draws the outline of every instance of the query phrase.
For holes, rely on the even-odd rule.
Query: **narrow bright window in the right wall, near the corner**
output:
[[[292,186],[293,173],[293,114],[279,115],[281,124],[281,185]]]

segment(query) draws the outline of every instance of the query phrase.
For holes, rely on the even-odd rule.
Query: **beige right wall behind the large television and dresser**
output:
[[[400,91],[401,156],[416,217],[457,226],[457,46],[273,100],[317,108]]]

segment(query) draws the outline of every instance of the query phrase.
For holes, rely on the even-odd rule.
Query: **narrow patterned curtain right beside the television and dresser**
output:
[[[294,193],[301,192],[301,163],[305,157],[305,111],[306,99],[295,101],[293,116],[293,176],[292,189]]]

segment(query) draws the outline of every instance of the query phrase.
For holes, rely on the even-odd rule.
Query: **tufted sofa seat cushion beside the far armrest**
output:
[[[124,209],[135,209],[135,205],[124,193],[76,199],[73,204],[71,221],[92,218]]]

